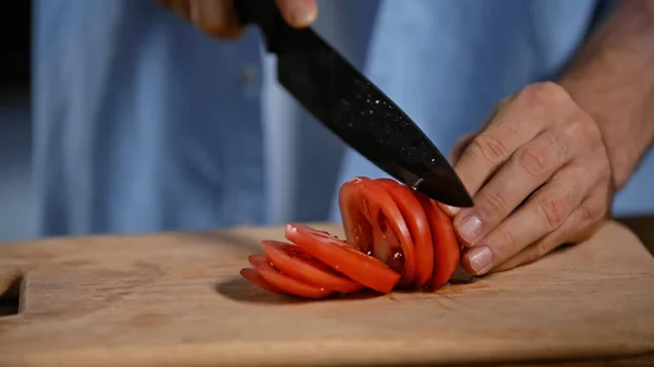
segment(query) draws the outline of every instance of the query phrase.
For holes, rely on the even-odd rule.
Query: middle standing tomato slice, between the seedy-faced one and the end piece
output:
[[[434,271],[434,244],[432,242],[432,230],[420,200],[415,197],[413,189],[407,185],[390,179],[377,179],[402,212],[402,217],[411,231],[411,238],[415,245],[416,273],[414,285],[423,289],[432,279]]]

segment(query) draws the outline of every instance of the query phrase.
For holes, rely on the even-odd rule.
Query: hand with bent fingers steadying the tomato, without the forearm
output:
[[[445,209],[472,274],[583,241],[608,212],[614,189],[601,131],[557,84],[532,84],[504,100],[453,156],[475,205]]]

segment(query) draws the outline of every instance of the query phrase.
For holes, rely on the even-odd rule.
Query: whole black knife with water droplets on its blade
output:
[[[473,206],[453,168],[423,131],[312,28],[289,26],[274,0],[234,0],[277,57],[277,79],[347,145],[432,199]]]

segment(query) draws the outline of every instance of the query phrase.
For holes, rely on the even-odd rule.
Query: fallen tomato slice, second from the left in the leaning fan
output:
[[[266,282],[280,289],[284,293],[306,298],[324,298],[334,293],[331,290],[306,284],[289,276],[282,274],[270,265],[266,255],[250,255],[247,260]]]

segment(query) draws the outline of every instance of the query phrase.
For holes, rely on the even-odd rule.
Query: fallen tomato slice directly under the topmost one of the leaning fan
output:
[[[262,241],[272,266],[282,273],[305,283],[341,293],[354,293],[363,285],[337,272],[301,247],[279,241]]]

